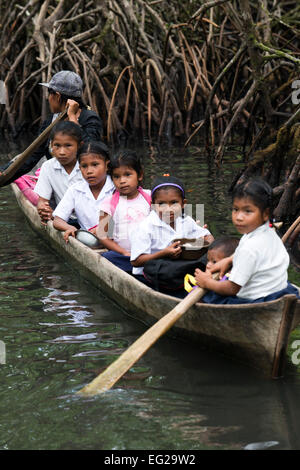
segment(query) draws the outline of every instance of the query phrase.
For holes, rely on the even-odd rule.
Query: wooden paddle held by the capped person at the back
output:
[[[28,157],[47,139],[51,130],[59,121],[64,119],[67,116],[67,108],[60,113],[60,115],[53,121],[46,129],[27,147],[24,152],[20,153],[11,160],[11,164],[6,170],[0,175],[0,188],[3,186],[7,180],[12,178],[16,171],[23,165]]]

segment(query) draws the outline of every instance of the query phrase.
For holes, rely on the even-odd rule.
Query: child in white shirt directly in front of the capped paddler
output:
[[[37,210],[43,224],[52,219],[53,209],[49,204],[51,197],[58,204],[69,186],[83,180],[76,160],[81,144],[82,132],[78,124],[63,121],[53,128],[50,146],[54,158],[43,163],[34,188],[34,192],[39,195]]]

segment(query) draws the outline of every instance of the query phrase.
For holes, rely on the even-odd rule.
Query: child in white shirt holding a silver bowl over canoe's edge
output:
[[[115,189],[111,177],[107,175],[109,152],[105,144],[102,142],[83,144],[77,153],[77,159],[83,179],[66,191],[53,212],[53,226],[65,232],[66,242],[69,236],[75,236],[77,230],[68,223],[73,212],[80,227],[95,234],[100,205]]]

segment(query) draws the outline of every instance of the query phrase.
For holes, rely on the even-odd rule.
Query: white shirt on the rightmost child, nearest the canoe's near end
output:
[[[237,297],[255,300],[286,288],[288,266],[288,252],[267,222],[242,236],[229,280],[241,286]]]

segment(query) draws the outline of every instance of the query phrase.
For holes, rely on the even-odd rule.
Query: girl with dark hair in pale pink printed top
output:
[[[110,161],[109,168],[116,191],[101,204],[96,233],[109,250],[102,256],[131,273],[130,233],[138,232],[138,224],[150,212],[150,190],[144,190],[140,186],[144,173],[140,158],[135,152],[120,151]],[[114,223],[112,236],[109,233],[111,221]]]

